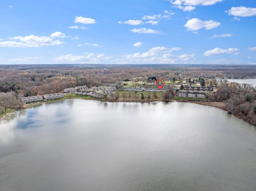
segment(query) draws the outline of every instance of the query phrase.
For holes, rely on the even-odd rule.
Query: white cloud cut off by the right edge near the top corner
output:
[[[233,16],[240,16],[240,17],[250,17],[250,16],[256,16],[256,8],[251,7],[232,7],[230,10],[225,11],[229,15]]]

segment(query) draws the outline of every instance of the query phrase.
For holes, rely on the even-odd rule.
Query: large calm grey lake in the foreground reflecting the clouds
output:
[[[0,123],[0,191],[256,189],[256,128],[217,108],[76,99]]]

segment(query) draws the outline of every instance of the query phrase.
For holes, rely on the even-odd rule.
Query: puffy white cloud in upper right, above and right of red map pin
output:
[[[184,25],[188,31],[199,30],[201,28],[206,28],[206,30],[216,28],[220,25],[220,22],[215,22],[213,20],[209,21],[201,21],[198,18],[193,18],[188,20],[188,22]]]

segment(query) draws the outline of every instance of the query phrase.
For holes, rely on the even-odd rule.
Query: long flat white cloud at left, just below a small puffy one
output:
[[[20,40],[22,42],[28,43],[28,44],[32,44],[32,45],[37,45],[37,46],[48,46],[48,45],[59,45],[62,44],[64,42],[59,41],[59,40],[53,40],[51,37],[46,37],[46,36],[36,36],[36,35],[29,35],[29,36],[17,36],[17,37],[10,37],[9,39],[12,40]]]

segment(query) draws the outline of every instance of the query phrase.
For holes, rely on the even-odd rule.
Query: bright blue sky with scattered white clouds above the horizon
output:
[[[0,64],[256,64],[256,0],[8,0],[0,20]]]

